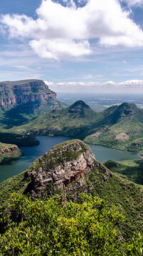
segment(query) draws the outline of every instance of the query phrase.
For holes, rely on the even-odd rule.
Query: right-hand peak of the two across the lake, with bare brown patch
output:
[[[104,111],[107,116],[109,109]],[[143,109],[124,103],[114,108],[111,117],[105,129],[97,129],[85,141],[143,155]]]

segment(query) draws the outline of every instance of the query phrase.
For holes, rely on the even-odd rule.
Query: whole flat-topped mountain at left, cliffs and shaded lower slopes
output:
[[[0,82],[0,123],[9,128],[28,122],[42,112],[64,107],[41,80]]]

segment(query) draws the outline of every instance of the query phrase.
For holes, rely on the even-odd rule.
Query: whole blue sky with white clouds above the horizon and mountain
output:
[[[1,0],[0,81],[143,93],[143,0]]]

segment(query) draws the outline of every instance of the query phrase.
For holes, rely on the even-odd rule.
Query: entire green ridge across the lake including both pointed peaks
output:
[[[11,131],[63,135],[84,142],[129,150],[143,155],[143,109],[123,103],[95,112],[83,101],[66,109],[54,109]]]

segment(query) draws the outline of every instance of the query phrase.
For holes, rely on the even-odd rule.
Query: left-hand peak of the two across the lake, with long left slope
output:
[[[34,121],[11,131],[51,136],[68,134],[69,137],[84,139],[96,119],[95,111],[83,101],[77,101],[66,109],[53,109],[49,113],[41,114]]]

